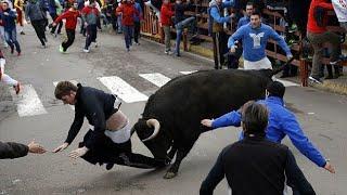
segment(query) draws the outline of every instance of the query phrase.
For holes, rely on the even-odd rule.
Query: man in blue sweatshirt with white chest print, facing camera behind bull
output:
[[[231,53],[234,53],[235,41],[242,40],[244,69],[271,69],[271,62],[265,51],[269,39],[273,39],[280,44],[288,60],[293,57],[284,39],[270,26],[261,23],[259,12],[253,12],[250,23],[239,28],[229,38],[228,48]]]

